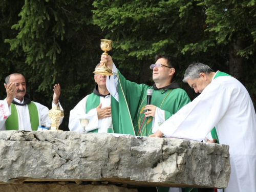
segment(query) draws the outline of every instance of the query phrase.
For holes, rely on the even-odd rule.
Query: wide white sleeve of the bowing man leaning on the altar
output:
[[[228,87],[211,82],[201,95],[167,119],[159,131],[167,137],[202,141],[226,113],[230,97]]]

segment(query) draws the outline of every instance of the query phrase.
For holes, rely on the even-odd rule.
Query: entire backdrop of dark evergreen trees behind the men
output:
[[[181,63],[179,82],[186,67],[200,61],[236,76],[252,95],[255,7],[255,0],[4,0],[0,81],[24,74],[32,100],[49,108],[53,85],[60,83],[65,110],[60,129],[68,130],[70,110],[93,91],[100,39],[106,38],[114,40],[109,54],[132,81],[152,85],[155,55],[170,54]],[[3,85],[0,90],[3,99]]]

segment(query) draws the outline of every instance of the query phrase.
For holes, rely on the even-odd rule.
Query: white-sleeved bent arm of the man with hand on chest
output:
[[[83,128],[80,124],[80,118],[89,119],[89,123],[86,127],[87,132],[98,129],[100,123],[98,120],[98,114],[96,109],[90,110],[86,114],[86,102],[89,95],[84,97],[73,110],[70,111],[69,116],[69,130],[75,132],[82,132]]]

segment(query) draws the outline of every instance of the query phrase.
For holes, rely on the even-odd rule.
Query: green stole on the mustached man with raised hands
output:
[[[39,126],[38,111],[35,103],[28,103],[29,117],[32,131],[37,131]],[[18,113],[15,104],[11,103],[11,115],[5,122],[5,130],[18,130]]]

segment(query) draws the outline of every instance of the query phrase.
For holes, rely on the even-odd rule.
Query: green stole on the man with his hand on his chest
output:
[[[91,93],[86,101],[86,113],[88,113],[90,110],[97,108],[97,106],[100,103],[100,98],[98,95]],[[111,114],[112,114],[112,109],[111,109]],[[115,126],[114,126],[115,127]],[[88,133],[98,133],[98,129],[89,131]],[[113,127],[108,128],[108,133],[116,133],[113,130]]]

